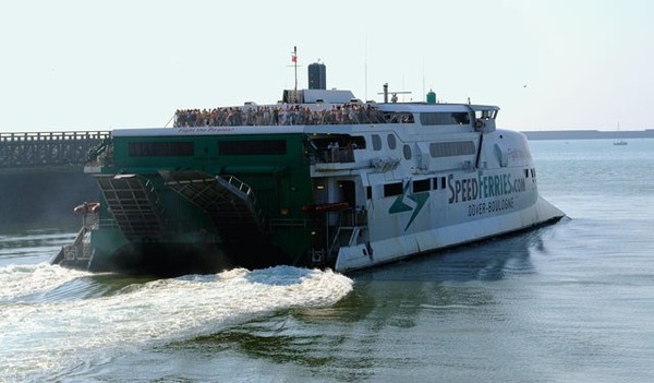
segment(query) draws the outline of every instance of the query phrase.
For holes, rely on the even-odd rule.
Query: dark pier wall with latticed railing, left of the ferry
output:
[[[98,199],[84,164],[107,131],[0,133],[0,225],[75,222],[73,207]]]

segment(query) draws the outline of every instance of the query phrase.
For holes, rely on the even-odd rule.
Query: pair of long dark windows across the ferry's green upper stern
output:
[[[193,142],[131,142],[130,157],[190,157],[195,152]],[[286,140],[223,141],[218,143],[222,156],[284,155]]]

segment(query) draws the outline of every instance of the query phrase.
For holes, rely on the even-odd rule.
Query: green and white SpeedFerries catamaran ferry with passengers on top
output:
[[[349,273],[559,220],[526,137],[489,105],[283,91],[116,129],[53,264],[177,276],[287,264]],[[389,100],[389,96],[391,99]],[[90,204],[90,205],[89,205]],[[92,206],[92,208],[89,208]]]

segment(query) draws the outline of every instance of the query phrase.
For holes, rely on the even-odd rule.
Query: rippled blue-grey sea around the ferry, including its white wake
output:
[[[92,275],[47,264],[71,228],[0,231],[0,381],[654,381],[654,140],[531,144],[569,218],[348,277]]]

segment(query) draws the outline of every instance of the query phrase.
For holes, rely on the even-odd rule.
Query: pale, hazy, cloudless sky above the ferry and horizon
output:
[[[653,129],[650,0],[21,0],[0,4],[0,132],[164,127],[276,103],[307,65],[380,101],[497,105],[501,128]]]

